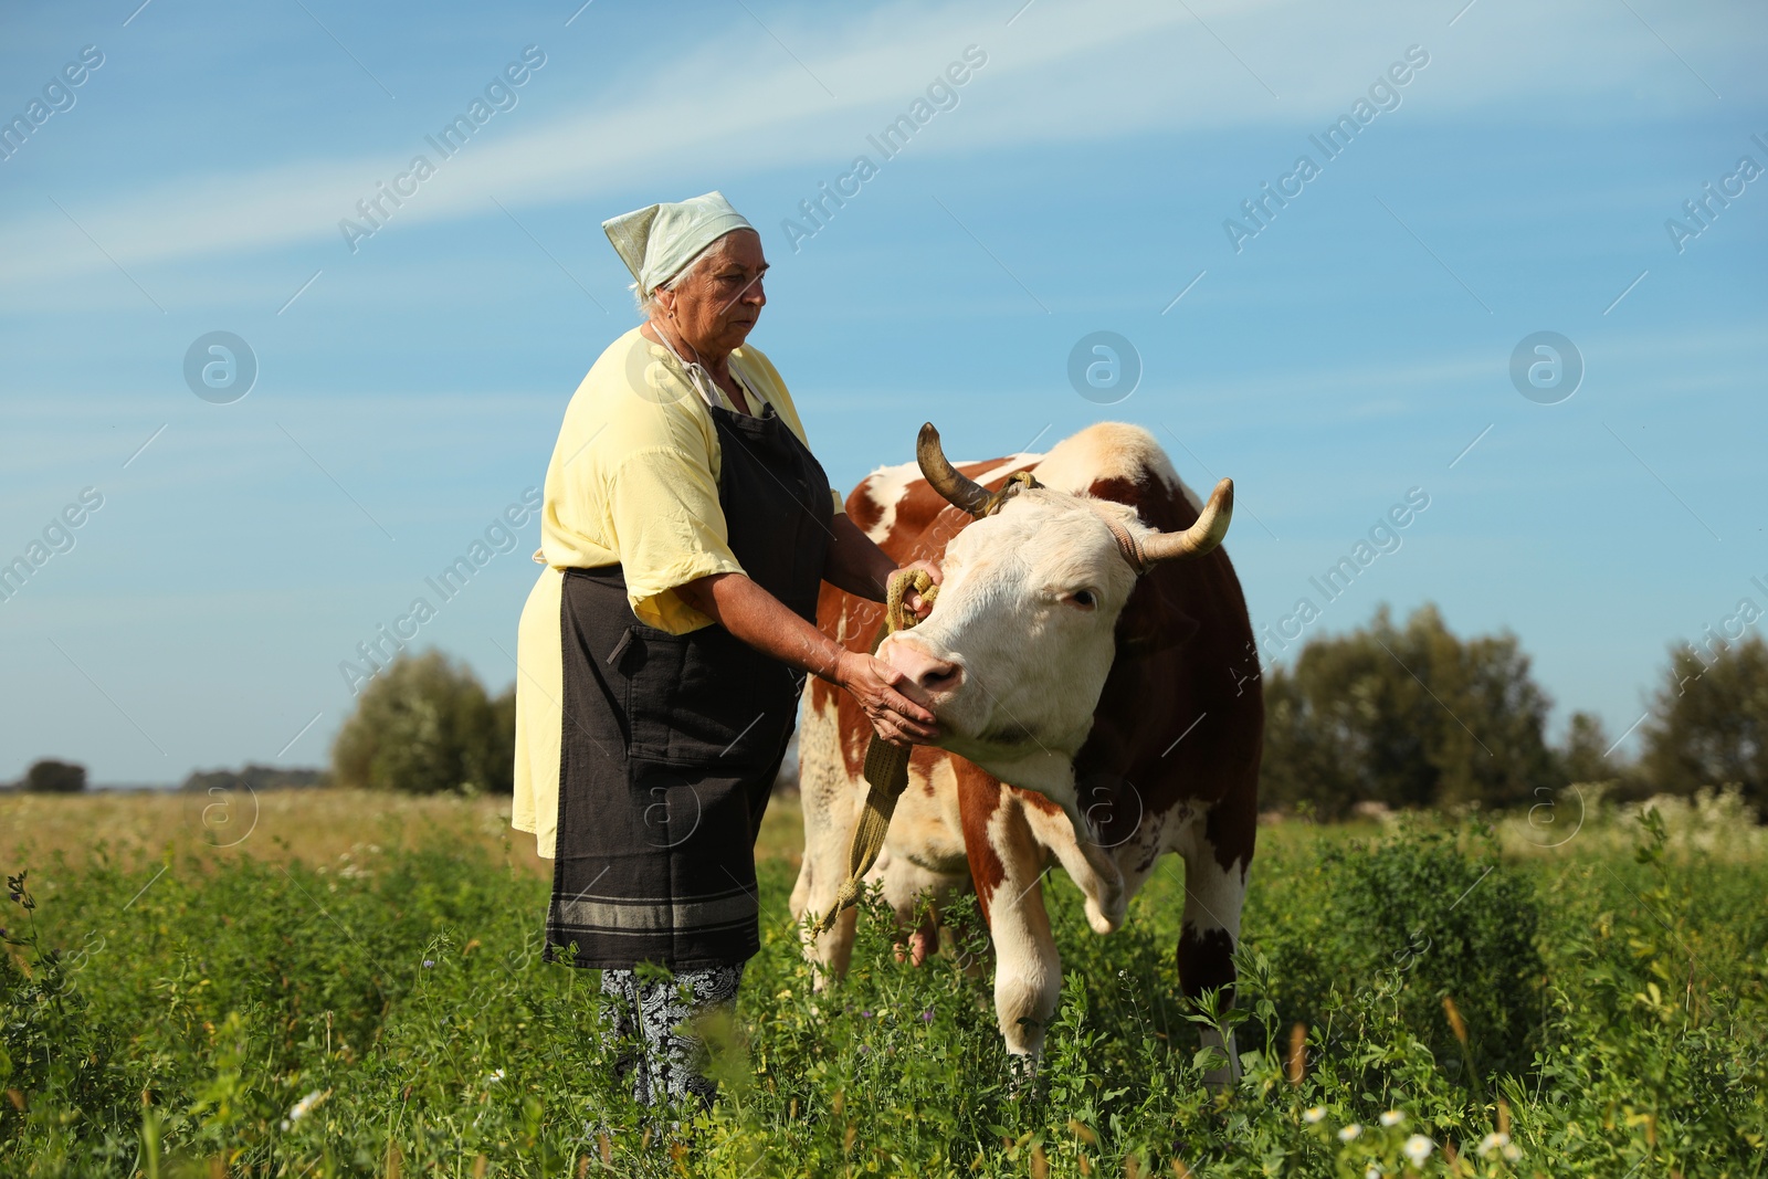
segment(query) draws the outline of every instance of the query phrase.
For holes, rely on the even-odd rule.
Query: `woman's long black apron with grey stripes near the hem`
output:
[[[833,537],[822,465],[771,407],[709,407],[743,571],[815,624]],[[559,841],[546,956],[578,967],[746,962],[755,836],[797,721],[799,672],[723,626],[633,617],[621,566],[566,569]],[[575,956],[569,947],[576,946]]]

